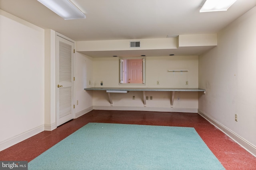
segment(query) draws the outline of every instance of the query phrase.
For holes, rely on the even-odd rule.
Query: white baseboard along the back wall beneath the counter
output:
[[[128,110],[128,111],[161,111],[198,113],[198,109],[173,108],[173,107],[125,107],[125,106],[93,106],[94,110]]]

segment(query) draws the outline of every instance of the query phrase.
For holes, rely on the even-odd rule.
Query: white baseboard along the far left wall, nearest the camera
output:
[[[38,127],[35,127],[33,129],[30,129],[24,133],[21,133],[19,135],[16,135],[14,137],[10,137],[9,139],[6,139],[4,141],[0,142],[0,151],[7,149],[21,141],[24,141],[25,139],[28,139],[40,132],[44,131],[44,125],[40,125]]]

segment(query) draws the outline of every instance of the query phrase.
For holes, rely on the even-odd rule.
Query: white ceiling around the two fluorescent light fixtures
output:
[[[92,41],[218,33],[256,6],[256,0],[237,0],[228,11],[200,13],[205,0],[70,1],[86,14],[86,19],[64,20],[37,0],[0,0],[0,9],[44,29],[53,29],[75,41]],[[168,53],[200,55],[208,49],[172,49]],[[122,51],[118,52],[122,55]],[[130,51],[138,52],[142,51]],[[92,52],[84,53],[93,55],[90,54]],[[151,50],[144,53],[162,55],[164,51]],[[100,52],[97,55],[101,55]]]

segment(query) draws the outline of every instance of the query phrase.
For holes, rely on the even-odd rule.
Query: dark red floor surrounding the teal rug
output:
[[[256,170],[256,157],[197,113],[93,110],[53,131],[41,132],[0,152],[0,160],[31,161],[89,122],[194,127],[226,170]]]

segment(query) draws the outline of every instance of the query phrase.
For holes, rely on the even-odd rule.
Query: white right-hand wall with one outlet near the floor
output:
[[[256,155],[256,7],[218,33],[199,57],[199,112]],[[238,121],[235,121],[235,113]]]

